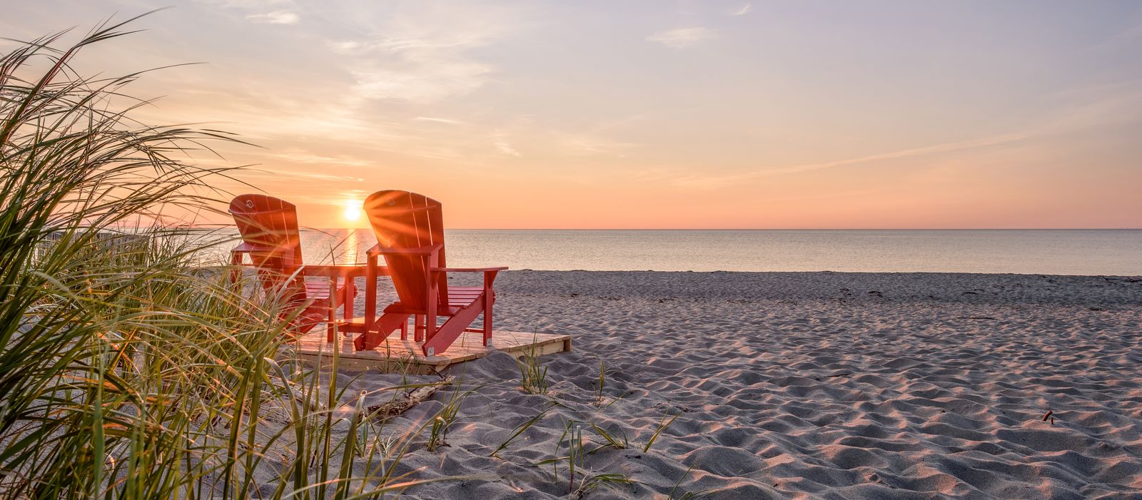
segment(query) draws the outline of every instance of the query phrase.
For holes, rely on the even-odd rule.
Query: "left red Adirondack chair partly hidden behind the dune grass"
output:
[[[337,324],[349,326],[356,296],[353,276],[363,276],[364,266],[304,265],[297,208],[292,203],[264,194],[243,194],[231,201],[230,213],[242,235],[242,243],[231,250],[231,264],[241,266],[242,256],[250,257],[266,295],[280,298],[286,305],[282,317],[292,316],[290,331],[300,336],[325,322],[327,340],[333,341],[335,312],[339,306],[344,306],[346,321]],[[325,280],[308,281],[306,276]]]

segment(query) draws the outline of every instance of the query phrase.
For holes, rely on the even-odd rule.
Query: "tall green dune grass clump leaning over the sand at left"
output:
[[[0,56],[0,498],[341,499],[416,484],[393,473],[412,436],[362,419],[360,402],[335,413],[336,357],[324,373],[279,357],[280,304],[195,268],[216,242],[164,225],[225,205],[210,186],[231,171],[187,159],[236,139],[139,123],[148,103],[127,87],[142,73],[72,68],[130,22]]]

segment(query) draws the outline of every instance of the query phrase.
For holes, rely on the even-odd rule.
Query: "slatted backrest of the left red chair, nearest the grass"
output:
[[[305,285],[287,280],[301,265],[297,207],[264,194],[242,194],[230,202],[230,213],[242,241],[255,249],[250,260],[267,291],[289,287],[293,299],[305,299]],[[300,295],[300,297],[298,297]]]

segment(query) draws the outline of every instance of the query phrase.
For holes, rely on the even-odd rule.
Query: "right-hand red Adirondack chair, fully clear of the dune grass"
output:
[[[378,191],[365,199],[364,211],[377,236],[377,245],[369,250],[370,261],[385,257],[400,300],[385,307],[373,328],[355,339],[356,348],[377,347],[397,329],[407,339],[410,316],[415,318],[415,340],[424,341],[426,356],[443,353],[465,331],[483,333],[486,346],[492,338],[496,303],[492,282],[507,267],[448,267],[441,204],[425,195]],[[483,285],[449,287],[448,273],[460,272],[483,273]],[[472,328],[481,313],[483,328]],[[371,311],[365,314],[371,315]],[[436,324],[439,317],[445,318],[443,324]]]

